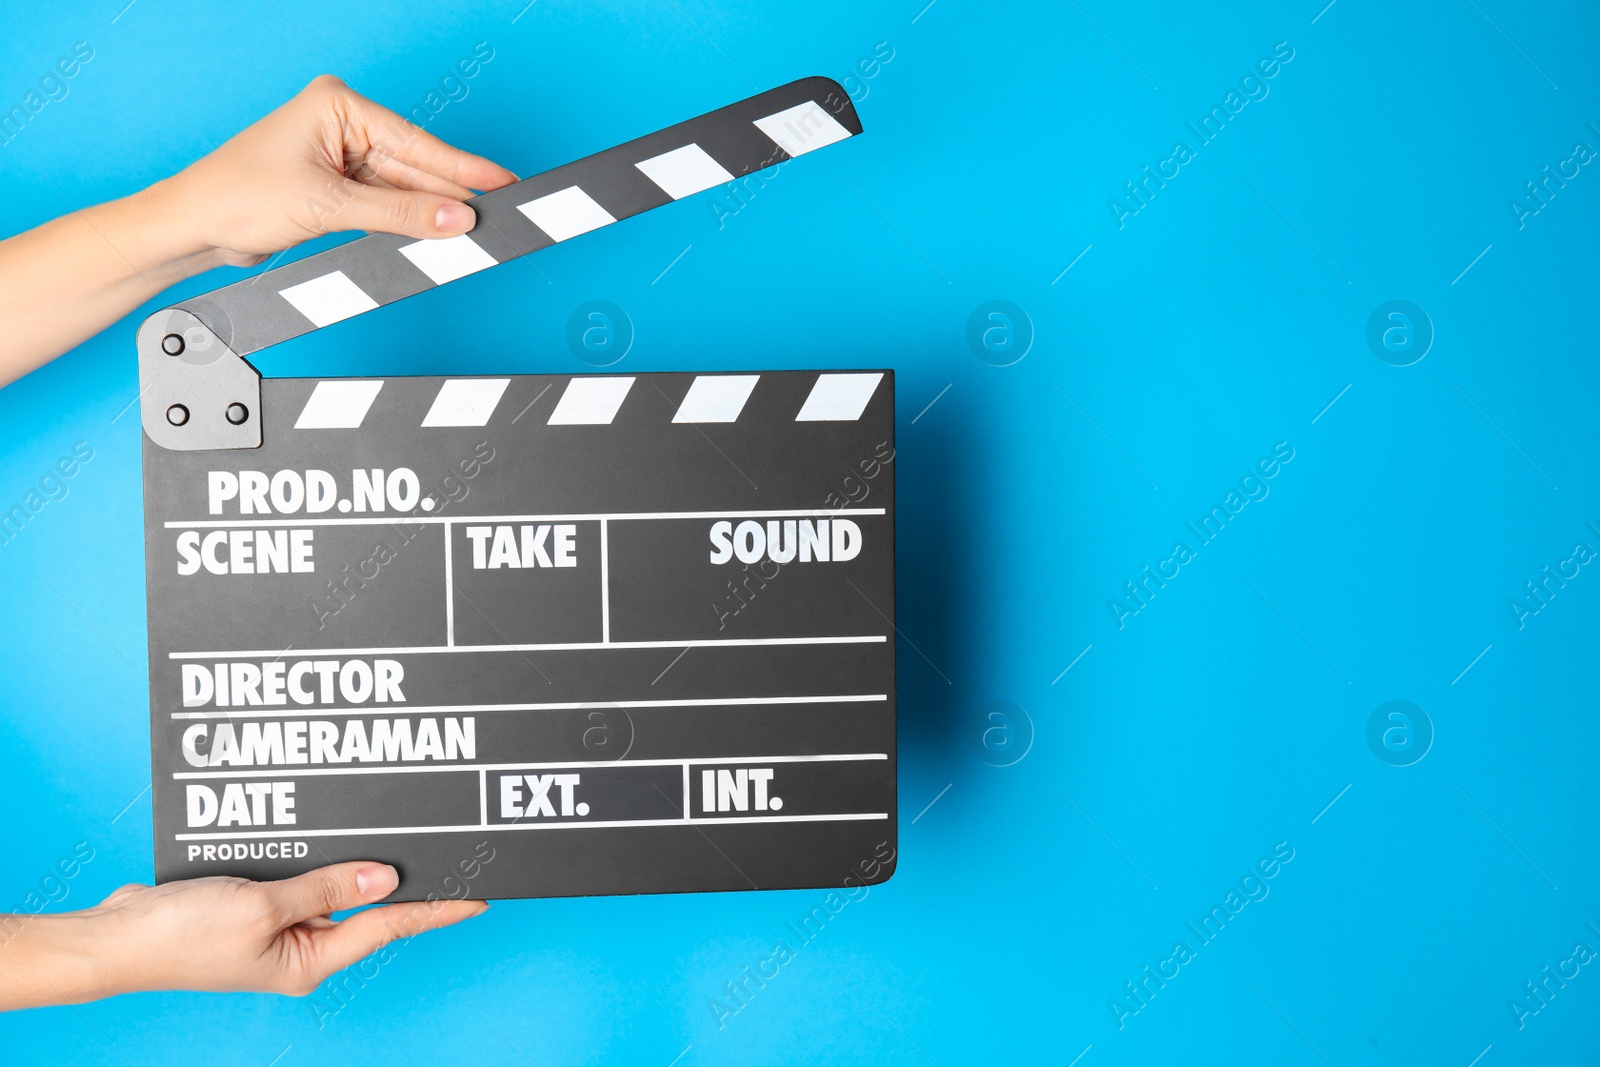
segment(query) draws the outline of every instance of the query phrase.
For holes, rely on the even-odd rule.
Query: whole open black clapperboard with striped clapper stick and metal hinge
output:
[[[394,899],[893,872],[891,371],[243,357],[861,133],[806,78],[141,328],[155,875]]]

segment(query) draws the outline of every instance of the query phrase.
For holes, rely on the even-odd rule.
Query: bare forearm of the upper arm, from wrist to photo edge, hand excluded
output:
[[[221,262],[192,238],[178,182],[0,242],[0,386]]]

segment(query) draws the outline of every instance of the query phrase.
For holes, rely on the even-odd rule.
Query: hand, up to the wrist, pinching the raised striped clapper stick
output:
[[[162,186],[194,253],[246,267],[338,230],[466,234],[477,219],[462,200],[514,181],[322,75]]]

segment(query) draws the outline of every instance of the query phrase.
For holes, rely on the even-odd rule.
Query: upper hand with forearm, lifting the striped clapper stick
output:
[[[466,234],[462,200],[514,181],[323,75],[173,178],[0,242],[0,386],[190,275],[334,230]]]

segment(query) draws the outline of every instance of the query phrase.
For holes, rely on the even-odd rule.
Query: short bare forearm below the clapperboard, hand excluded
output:
[[[109,997],[114,953],[94,913],[0,915],[0,1011]]]

